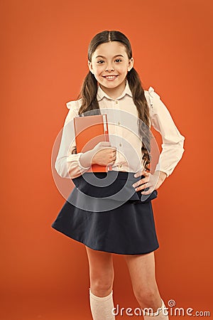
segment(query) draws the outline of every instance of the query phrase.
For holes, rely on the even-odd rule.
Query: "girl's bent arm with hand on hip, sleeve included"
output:
[[[160,96],[154,92],[153,87],[150,87],[148,90],[148,98],[150,102],[151,124],[155,130],[160,132],[163,144],[155,172],[150,174],[147,171],[142,171],[135,174],[135,177],[145,176],[145,178],[133,183],[136,191],[142,190],[141,193],[144,195],[148,195],[151,191],[161,186],[165,178],[172,174],[185,151],[183,149],[185,137],[178,131],[170,112],[160,100]],[[149,189],[148,191],[143,191],[144,188]]]

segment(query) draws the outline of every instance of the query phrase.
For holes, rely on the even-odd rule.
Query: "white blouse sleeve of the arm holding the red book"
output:
[[[78,115],[77,101],[67,102],[66,105],[69,112],[62,129],[60,148],[55,160],[55,170],[62,178],[77,178],[77,176],[83,174],[90,167],[84,168],[80,164],[81,152],[72,154],[72,151],[76,147],[73,119]]]

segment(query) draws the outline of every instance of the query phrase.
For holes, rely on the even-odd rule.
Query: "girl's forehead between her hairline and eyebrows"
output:
[[[94,51],[93,58],[96,58],[97,55],[102,55],[106,58],[112,58],[114,55],[119,54],[127,56],[126,47],[119,41],[111,41],[100,44]]]

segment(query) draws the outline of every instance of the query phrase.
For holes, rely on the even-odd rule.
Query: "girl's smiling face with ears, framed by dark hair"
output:
[[[133,67],[133,58],[128,58],[122,43],[111,41],[97,47],[88,66],[102,89],[110,96],[118,96],[124,90],[126,75]]]

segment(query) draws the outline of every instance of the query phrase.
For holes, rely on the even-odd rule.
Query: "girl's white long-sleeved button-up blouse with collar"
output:
[[[160,96],[153,87],[144,90],[148,107],[150,108],[151,125],[160,132],[163,140],[162,151],[158,155],[155,171],[172,174],[175,166],[185,151],[183,137],[175,126],[167,107],[160,100]],[[102,113],[107,114],[109,141],[116,146],[116,161],[112,166],[115,171],[137,172],[143,169],[141,138],[138,134],[138,111],[133,103],[129,83],[126,81],[124,92],[116,100],[109,97],[101,87],[98,87],[97,101]],[[76,178],[88,168],[80,164],[81,152],[72,154],[75,149],[74,117],[78,116],[82,99],[67,102],[69,112],[62,129],[60,149],[55,161],[55,169],[62,178]]]

